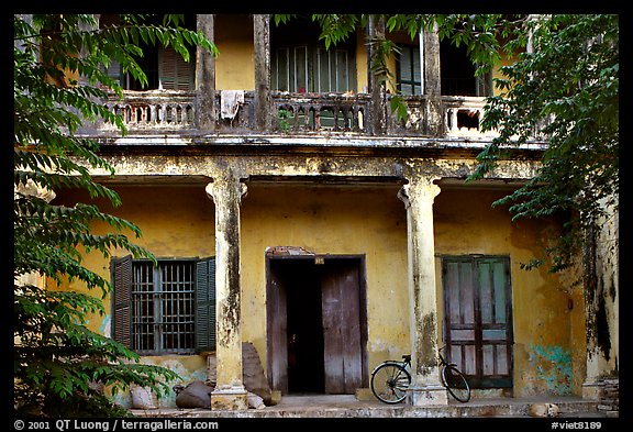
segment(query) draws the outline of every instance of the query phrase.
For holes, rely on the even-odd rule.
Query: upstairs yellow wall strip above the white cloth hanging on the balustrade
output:
[[[215,88],[255,90],[255,51],[251,15],[218,15],[214,20]]]

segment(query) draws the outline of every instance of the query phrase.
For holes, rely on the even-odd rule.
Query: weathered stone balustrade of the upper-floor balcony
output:
[[[216,91],[214,109],[216,120],[213,133],[257,134],[254,91],[241,92],[234,102],[234,115],[223,117],[222,103],[225,92]],[[389,96],[388,96],[389,97]],[[270,123],[273,133],[288,135],[353,134],[431,136],[429,100],[425,96],[407,96],[408,119],[398,121],[385,103],[386,124],[382,132],[375,131],[371,96],[367,93],[270,93]],[[447,137],[486,139],[482,133],[484,98],[444,96],[441,99],[442,132]],[[123,100],[112,95],[106,107],[122,117],[129,134],[196,134],[197,101],[195,92],[185,91],[125,91]],[[114,136],[114,124],[86,125],[87,135]],[[270,131],[268,131],[269,133]]]

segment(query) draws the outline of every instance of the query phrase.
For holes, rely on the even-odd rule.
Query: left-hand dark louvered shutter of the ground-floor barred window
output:
[[[114,293],[112,296],[112,337],[132,347],[132,255],[113,258],[110,273]]]

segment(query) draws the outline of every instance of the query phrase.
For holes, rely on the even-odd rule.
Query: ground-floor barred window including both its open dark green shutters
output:
[[[214,258],[112,261],[113,336],[138,354],[192,354],[215,345]]]

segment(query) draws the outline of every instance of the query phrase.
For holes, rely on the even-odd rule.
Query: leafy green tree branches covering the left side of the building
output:
[[[189,46],[216,48],[201,33],[180,26],[182,18],[122,15],[119,24],[101,29],[90,14],[14,15],[14,406],[20,414],[118,416],[95,386],[112,391],[132,384],[158,394],[177,375],[166,368],[140,364],[123,345],[90,331],[90,314],[104,313],[102,299],[111,285],[84,267],[84,253],[109,257],[114,247],[135,257],[155,258],[135,245],[141,230],[106,214],[91,203],[65,207],[48,202],[37,190],[81,189],[92,198],[121,204],[115,191],[97,184],[90,170],[114,169],[98,154],[98,144],[76,134],[82,122],[122,120],[104,108],[103,89],[122,96],[120,85],[104,71],[118,62],[124,73],[147,82],[137,59],[143,44],[171,46],[189,59]],[[114,233],[96,234],[91,223],[102,222]],[[27,283],[37,274],[51,280],[48,289]],[[63,283],[99,289],[86,292],[54,289]],[[84,407],[84,408],[81,408]],[[89,408],[87,408],[89,407]]]

